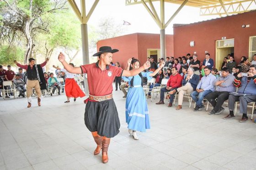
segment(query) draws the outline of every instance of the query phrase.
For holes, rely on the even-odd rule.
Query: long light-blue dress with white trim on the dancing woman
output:
[[[141,72],[143,77],[147,77],[150,80],[149,74],[152,72]],[[122,77],[124,81],[129,82],[131,86],[131,80],[133,77]],[[133,78],[133,87],[130,87],[126,97],[125,104],[125,116],[128,129],[133,129],[140,132],[146,132],[146,129],[150,129],[149,124],[149,111],[147,100],[141,87],[141,77],[139,75]]]

